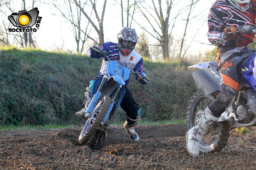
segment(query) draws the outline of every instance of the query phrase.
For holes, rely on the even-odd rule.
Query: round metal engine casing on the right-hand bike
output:
[[[244,105],[238,106],[238,108],[236,109],[236,115],[242,123],[248,123],[254,117],[254,114],[251,111],[248,111],[248,109]]]

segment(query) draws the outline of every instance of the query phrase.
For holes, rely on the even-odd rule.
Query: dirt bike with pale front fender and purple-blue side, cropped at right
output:
[[[254,32],[256,29],[249,25],[240,28]],[[188,68],[199,68],[192,74],[198,91],[191,97],[186,114],[187,129],[191,129],[197,125],[204,109],[218,96],[221,76],[217,61]],[[249,126],[256,126],[256,52],[244,59],[238,91],[226,111],[203,137],[200,151],[222,151],[231,129]]]

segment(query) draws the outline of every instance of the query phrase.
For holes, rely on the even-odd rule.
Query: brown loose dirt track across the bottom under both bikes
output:
[[[185,124],[137,126],[140,142],[111,126],[100,150],[78,143],[81,128],[0,131],[0,169],[256,169],[256,129],[232,130],[223,151],[191,158]]]

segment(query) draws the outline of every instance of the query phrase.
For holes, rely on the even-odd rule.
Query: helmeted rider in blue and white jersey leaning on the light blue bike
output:
[[[139,78],[138,76],[135,78],[139,81],[139,83],[145,85],[148,83],[149,78],[146,77],[146,74],[144,73],[143,68],[143,59],[142,56],[134,51],[135,45],[138,40],[138,35],[135,32],[134,28],[129,27],[123,27],[118,33],[117,33],[117,40],[118,43],[114,42],[106,42],[102,46],[92,46],[90,49],[87,50],[87,55],[91,58],[101,58],[102,56],[98,51],[104,50],[107,51],[111,56],[109,56],[110,60],[119,60],[126,66],[128,69],[133,70],[134,72],[139,72],[139,74],[142,76],[143,79]],[[96,49],[96,50],[95,50]],[[86,107],[90,103],[90,97],[92,93],[92,85],[94,83],[94,80],[96,79],[102,79],[102,77],[106,74],[106,68],[109,61],[105,58],[102,60],[102,65],[100,72],[96,77],[94,77],[90,81],[90,86],[87,87],[86,92],[86,106],[85,108],[82,108],[81,111],[76,112],[75,114],[82,118],[86,119],[89,118],[91,115],[90,113],[85,113]],[[139,141],[139,136],[137,132],[134,130],[134,126],[138,124],[139,117],[140,117],[140,106],[135,101],[132,92],[128,89],[127,80],[125,85],[123,86],[125,89],[125,94],[123,97],[123,100],[121,102],[121,108],[126,112],[126,121],[124,123],[124,129],[127,131],[129,138],[133,141]]]

